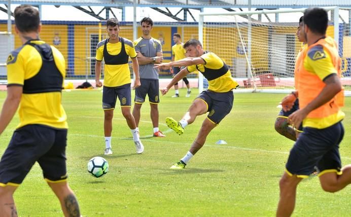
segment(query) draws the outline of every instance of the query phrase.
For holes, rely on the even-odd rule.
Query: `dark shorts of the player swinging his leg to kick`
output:
[[[196,98],[199,98],[206,103],[208,112],[207,118],[214,124],[219,124],[232,110],[234,93],[233,91],[218,93],[205,90]]]

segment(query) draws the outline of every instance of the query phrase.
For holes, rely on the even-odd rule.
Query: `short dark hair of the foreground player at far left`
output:
[[[20,5],[14,11],[15,24],[20,32],[38,31],[40,26],[39,11],[30,5]]]

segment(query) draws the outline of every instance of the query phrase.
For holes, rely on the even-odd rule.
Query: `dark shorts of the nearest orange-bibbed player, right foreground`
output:
[[[303,128],[290,151],[286,164],[287,172],[303,178],[311,174],[314,166],[317,166],[320,175],[334,171],[340,174],[339,144],[343,136],[344,128],[341,122],[325,129]]]

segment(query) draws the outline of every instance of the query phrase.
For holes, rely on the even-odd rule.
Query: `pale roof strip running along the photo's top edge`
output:
[[[136,0],[137,7],[247,8],[249,0]],[[0,1],[8,4],[8,1]],[[11,4],[131,7],[133,0],[12,0]],[[252,0],[252,8],[307,8],[310,6],[351,7],[349,0]]]

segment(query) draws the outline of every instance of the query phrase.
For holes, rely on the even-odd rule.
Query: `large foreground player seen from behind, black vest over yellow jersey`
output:
[[[0,115],[0,134],[18,107],[20,123],[0,161],[0,215],[18,215],[13,194],[38,162],[44,179],[61,203],[63,214],[80,216],[77,198],[67,183],[68,126],[61,105],[64,57],[39,39],[41,24],[37,9],[18,6],[14,17],[22,46],[7,59],[8,89]]]

